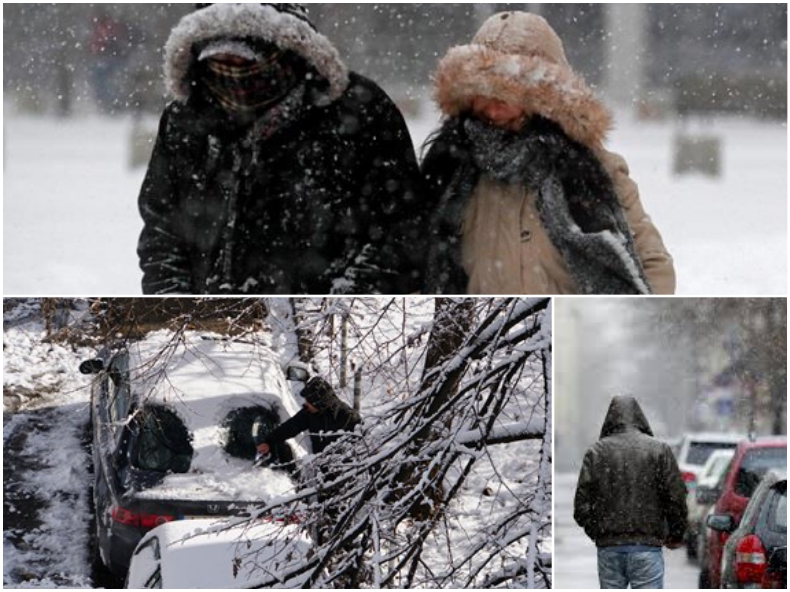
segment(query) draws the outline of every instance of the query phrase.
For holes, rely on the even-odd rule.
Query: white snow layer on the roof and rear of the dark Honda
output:
[[[132,344],[132,394],[164,405],[178,415],[192,436],[190,472],[171,474],[140,498],[185,500],[265,500],[293,489],[282,472],[254,468],[222,449],[220,425],[233,409],[263,406],[280,421],[301,405],[291,393],[268,341],[247,343],[211,334],[161,331]],[[306,451],[291,441],[297,457]]]

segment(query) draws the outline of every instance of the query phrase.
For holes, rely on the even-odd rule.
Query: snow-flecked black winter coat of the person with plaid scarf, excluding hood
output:
[[[165,111],[140,194],[146,294],[417,291],[426,208],[403,117],[351,74],[261,140],[199,95]],[[235,170],[234,170],[235,169]]]

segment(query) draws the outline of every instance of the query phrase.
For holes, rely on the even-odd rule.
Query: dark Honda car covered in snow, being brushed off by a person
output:
[[[157,526],[249,513],[293,490],[287,470],[253,466],[253,430],[300,408],[267,343],[161,331],[80,370],[95,375],[95,553],[117,577]],[[305,453],[296,441],[275,456],[288,467]]]

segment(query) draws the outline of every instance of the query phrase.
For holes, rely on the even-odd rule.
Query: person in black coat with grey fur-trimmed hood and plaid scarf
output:
[[[402,115],[299,4],[199,4],[173,30],[142,191],[146,294],[407,294],[426,213]]]

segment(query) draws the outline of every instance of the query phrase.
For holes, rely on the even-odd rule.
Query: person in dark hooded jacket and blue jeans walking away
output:
[[[574,518],[598,547],[601,588],[663,588],[662,547],[683,545],[686,486],[639,403],[615,397],[584,457]]]

